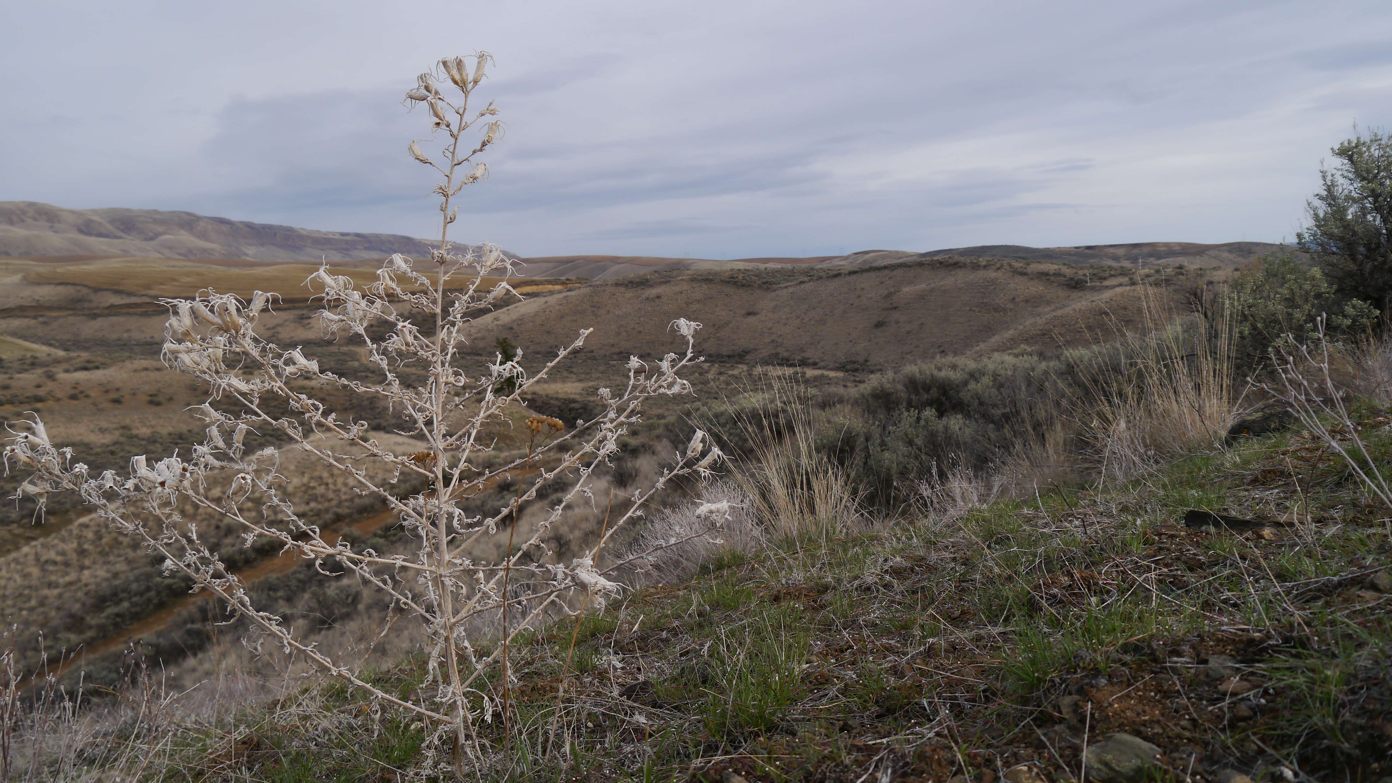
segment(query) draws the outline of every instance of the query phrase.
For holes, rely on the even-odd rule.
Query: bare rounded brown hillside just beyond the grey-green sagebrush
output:
[[[660,273],[539,296],[469,325],[475,345],[507,337],[547,353],[582,328],[600,355],[661,350],[678,317],[704,324],[711,357],[825,369],[899,367],[931,356],[1091,342],[1140,320],[1136,288],[1116,275],[976,260],[909,261],[853,271]],[[1173,277],[1171,275],[1171,280]]]

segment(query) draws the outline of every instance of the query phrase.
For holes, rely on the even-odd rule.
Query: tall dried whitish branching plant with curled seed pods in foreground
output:
[[[326,335],[354,335],[362,341],[380,380],[362,382],[335,376],[320,370],[302,346],[285,348],[258,335],[258,317],[276,295],[256,292],[244,300],[206,291],[196,299],[163,300],[170,307],[163,349],[166,363],[195,376],[210,389],[207,402],[193,409],[207,424],[203,442],[193,444],[184,456],[178,452],[163,459],[135,456],[125,476],[116,471],[92,476],[86,466],[72,459],[71,449],[50,442],[43,423],[33,416],[4,449],[7,470],[18,466],[29,471],[19,494],[33,497],[40,506],[53,492],[81,494],[102,519],[163,555],[167,572],[185,574],[193,580],[195,590],[212,591],[249,620],[251,647],[270,641],[379,702],[437,722],[437,741],[452,748],[457,765],[465,755],[482,758],[483,748],[473,730],[476,718],[491,716],[504,704],[505,697],[493,690],[496,683],[484,687],[480,677],[501,663],[505,641],[547,616],[568,613],[572,605],[603,605],[606,598],[619,592],[621,586],[608,576],[625,563],[607,569],[596,565],[604,544],[642,516],[644,502],[674,477],[706,477],[722,456],[707,435],[697,431],[650,487],[633,492],[626,510],[615,513],[583,556],[569,565],[553,562],[554,555],[543,537],[576,513],[582,501],[593,499],[592,471],[618,451],[619,437],[639,420],[643,402],[690,392],[681,371],[700,362],[693,352],[700,324],[678,318],[670,330],[683,341],[683,350],[665,355],[651,367],[631,357],[625,385],[619,391],[599,391],[601,414],[574,423],[569,433],[565,433],[567,423],[533,417],[528,423],[533,437],[525,456],[483,459],[494,449],[484,435],[486,426],[504,420],[509,406],[523,405],[528,391],[579,350],[590,331],[580,331],[544,367],[530,374],[519,364],[521,350],[515,356],[497,355],[482,367],[482,374],[469,374],[457,366],[464,346],[462,327],[516,295],[508,285],[512,261],[497,248],[458,253],[450,243],[450,224],[458,214],[452,200],[465,185],[487,174],[487,167],[475,157],[503,136],[503,125],[493,120],[498,111],[493,103],[470,108],[489,63],[487,53],[441,60],[434,72],[420,74],[416,86],[406,93],[411,106],[423,104],[429,110],[433,136],[444,136],[434,156],[418,140],[408,146],[411,157],[441,175],[434,188],[443,214],[440,245],[430,259],[416,263],[393,256],[377,273],[377,282],[365,289],[327,268],[306,281],[323,300],[319,317]],[[425,381],[412,387],[404,380],[408,376],[423,376]],[[401,433],[423,441],[425,448],[397,455],[373,438],[366,423],[340,419],[316,399],[317,391],[335,387],[388,403],[401,416]],[[244,439],[252,431],[276,433],[349,477],[358,492],[379,497],[415,535],[419,549],[411,556],[388,556],[354,549],[337,537],[322,537],[316,526],[296,516],[287,499],[287,477],[280,471],[278,452],[266,448],[248,453]],[[387,466],[390,481],[374,481],[362,467],[365,460]],[[468,498],[494,487],[509,473],[528,474],[529,470],[536,473],[519,485],[507,506],[473,516],[466,510]],[[423,478],[427,488],[398,497],[393,485],[404,474]],[[550,495],[541,522],[525,541],[509,540],[508,554],[498,562],[472,559],[476,542],[496,534],[500,526],[515,527],[519,512],[540,502],[539,490],[555,483],[562,490]],[[390,595],[397,609],[418,617],[427,631],[429,670],[438,686],[433,700],[402,698],[373,686],[326,651],[298,638],[278,616],[255,606],[245,586],[185,522],[181,509],[193,508],[235,523],[248,545],[258,538],[271,538],[312,560],[322,573],[352,572]],[[718,519],[711,516],[709,522],[714,526]],[[709,531],[690,530],[683,538]],[[679,542],[661,541],[653,548]],[[632,555],[635,559],[649,556],[650,551]],[[504,644],[484,655],[476,647],[476,631],[487,629],[490,622],[496,629],[500,615],[507,617],[501,631]],[[503,688],[505,693],[505,669]]]

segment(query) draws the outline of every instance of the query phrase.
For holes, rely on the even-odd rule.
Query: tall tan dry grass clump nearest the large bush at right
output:
[[[1086,396],[1076,419],[1101,473],[1129,478],[1165,459],[1222,442],[1236,419],[1239,389],[1231,318],[1175,317],[1144,299],[1140,334],[1126,334],[1121,360],[1098,353],[1083,367]]]

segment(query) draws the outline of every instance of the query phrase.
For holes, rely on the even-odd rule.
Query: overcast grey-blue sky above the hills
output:
[[[43,0],[0,8],[0,200],[429,236],[401,106],[497,58],[458,239],[540,255],[1292,238],[1392,117],[1392,3]]]

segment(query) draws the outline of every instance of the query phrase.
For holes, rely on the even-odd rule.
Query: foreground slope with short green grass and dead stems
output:
[[[1384,453],[1385,427],[1367,430]],[[1178,524],[1190,508],[1299,519],[1210,533]],[[1165,752],[1158,779],[1285,766],[1378,780],[1385,516],[1297,434],[1111,490],[806,537],[535,636],[514,654],[529,744],[497,716],[480,732],[509,748],[493,776],[512,765],[515,780],[990,782],[1018,764],[1069,780],[1112,732]],[[562,770],[560,747],[540,755],[564,672]],[[425,672],[379,677],[411,694]],[[423,743],[411,720],[310,687],[231,733],[195,733],[171,779],[207,765],[235,780],[405,779]]]

